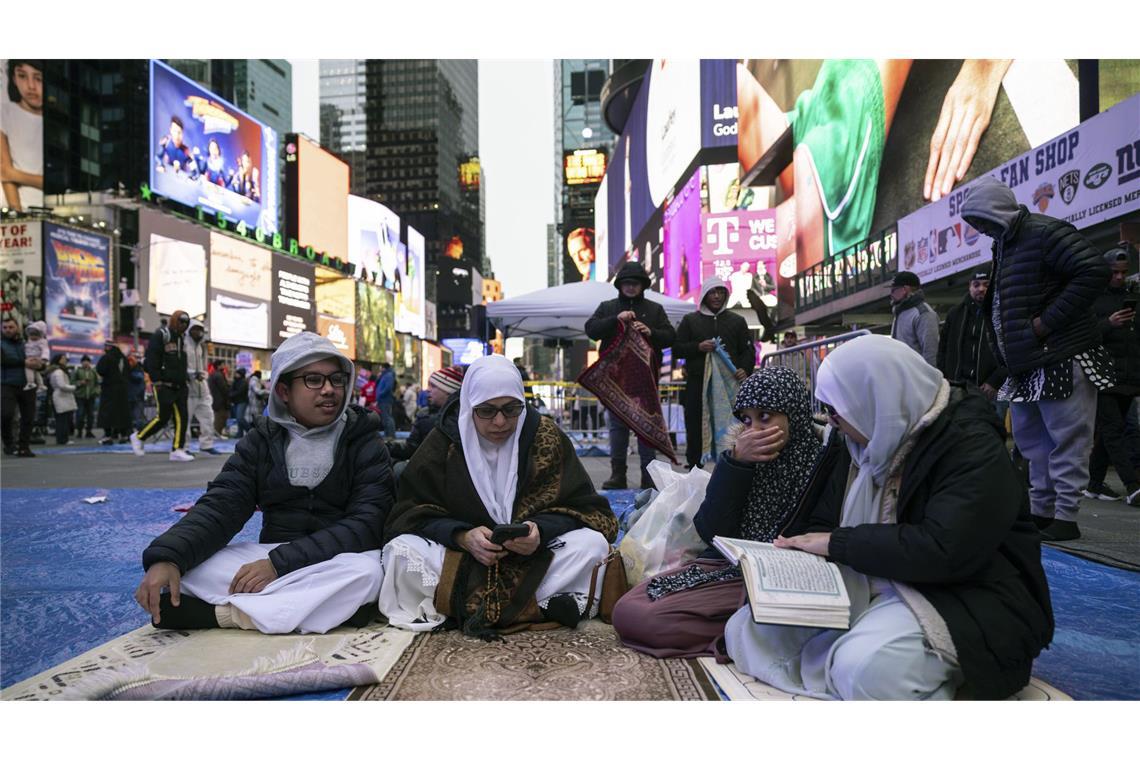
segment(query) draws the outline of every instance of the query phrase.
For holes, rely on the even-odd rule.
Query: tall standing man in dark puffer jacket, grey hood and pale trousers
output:
[[[997,399],[1012,402],[1013,440],[1029,460],[1033,520],[1047,540],[1080,538],[1097,392],[1115,383],[1092,313],[1108,265],[1072,224],[1029,213],[992,177],[970,188],[962,219],[993,240],[983,310],[1009,371]]]

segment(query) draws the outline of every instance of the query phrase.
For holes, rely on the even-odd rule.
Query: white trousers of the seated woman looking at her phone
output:
[[[605,537],[589,528],[579,528],[551,540],[547,547],[554,553],[546,577],[538,585],[535,598],[540,607],[555,594],[572,594],[583,616],[593,616],[596,610],[586,610],[589,577],[594,565],[610,553]],[[442,544],[418,536],[397,536],[384,546],[384,579],[380,588],[380,611],[397,628],[413,631],[431,630],[443,622],[435,610],[435,587],[443,571]],[[602,591],[604,572],[598,572],[594,595]],[[596,605],[595,605],[596,606]]]

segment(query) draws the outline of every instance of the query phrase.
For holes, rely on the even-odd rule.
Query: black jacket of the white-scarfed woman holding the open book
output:
[[[903,465],[898,523],[838,528],[850,455],[833,434],[783,531],[831,532],[832,562],[921,593],[950,629],[963,689],[983,700],[1028,684],[1053,637],[1041,539],[1003,439],[990,401],[952,385]]]

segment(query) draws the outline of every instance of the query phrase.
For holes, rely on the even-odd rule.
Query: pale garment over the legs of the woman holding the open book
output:
[[[838,700],[954,698],[962,683],[961,669],[927,648],[918,619],[889,585],[870,598],[853,595],[852,618],[846,631],[766,626],[755,622],[746,605],[725,623],[725,648],[741,671],[792,694]]]

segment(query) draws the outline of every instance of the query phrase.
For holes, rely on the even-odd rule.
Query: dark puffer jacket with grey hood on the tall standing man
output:
[[[1092,304],[1108,286],[1108,264],[1076,228],[1031,214],[1012,190],[985,177],[970,191],[962,219],[987,220],[1005,230],[994,240],[993,284],[986,293],[986,329],[997,359],[1012,374],[1044,367],[1100,344]],[[972,223],[972,222],[970,222]],[[994,296],[1001,301],[999,337]],[[1040,317],[1044,337],[1033,332]]]

